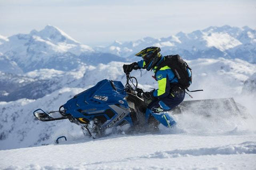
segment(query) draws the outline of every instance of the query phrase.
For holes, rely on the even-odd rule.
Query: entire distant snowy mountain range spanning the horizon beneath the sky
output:
[[[36,69],[68,71],[81,63],[97,65],[111,61],[136,61],[133,56],[148,46],[158,46],[163,55],[180,54],[186,60],[196,58],[240,58],[255,63],[256,30],[225,25],[191,33],[179,32],[167,38],[146,37],[136,41],[115,41],[107,47],[89,47],[52,25],[41,31],[11,37],[0,36],[0,53],[16,63],[23,72]],[[118,57],[119,56],[119,57]],[[6,62],[6,61],[5,61]],[[0,71],[13,73],[9,70]]]

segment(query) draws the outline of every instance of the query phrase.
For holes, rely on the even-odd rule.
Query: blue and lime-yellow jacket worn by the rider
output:
[[[157,65],[164,62],[165,58],[162,57]],[[146,69],[145,62],[143,60],[137,62],[139,69]],[[154,72],[157,69],[157,65],[154,67]],[[156,81],[158,82],[158,89],[154,90],[153,95],[155,97],[163,98],[170,94],[170,83],[178,83],[178,78],[175,77],[173,71],[169,66],[164,66],[155,73]]]

